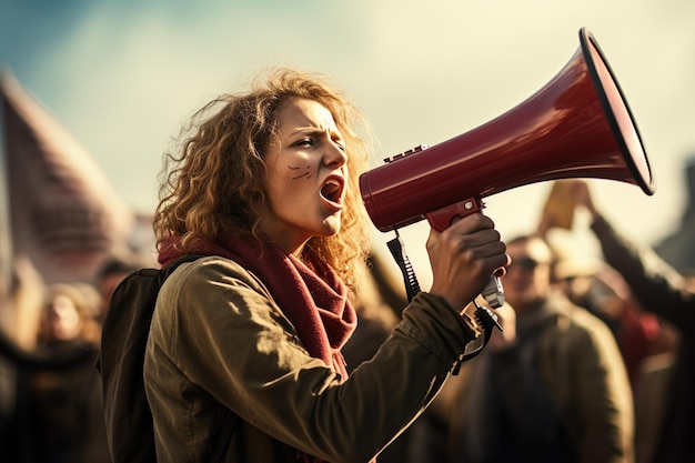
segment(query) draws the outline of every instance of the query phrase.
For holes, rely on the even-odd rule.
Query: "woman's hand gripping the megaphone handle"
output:
[[[510,264],[494,222],[482,213],[467,215],[442,233],[431,230],[426,248],[433,278],[430,293],[455,309],[463,310],[493,273],[501,276]]]

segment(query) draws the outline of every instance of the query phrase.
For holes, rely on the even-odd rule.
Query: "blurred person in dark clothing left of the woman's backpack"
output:
[[[17,365],[11,461],[110,461],[94,368],[100,338],[97,294],[85,284],[48,288],[36,350]]]

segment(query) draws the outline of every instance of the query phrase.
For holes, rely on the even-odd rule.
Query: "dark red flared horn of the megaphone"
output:
[[[567,64],[504,114],[365,172],[360,190],[382,232],[427,219],[443,231],[481,199],[524,184],[598,178],[655,192],[642,137],[595,38],[580,30]]]

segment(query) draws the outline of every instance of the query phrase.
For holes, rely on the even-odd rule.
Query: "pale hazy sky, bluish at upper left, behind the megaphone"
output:
[[[522,102],[570,60],[586,27],[627,97],[658,190],[592,185],[627,234],[654,243],[678,225],[695,153],[693,18],[689,0],[0,0],[0,63],[128,203],[149,211],[161,154],[185,118],[268,67],[330,74],[371,120],[379,161]],[[547,188],[491,197],[486,212],[505,235],[527,232]],[[404,230],[412,254],[425,233],[424,223]]]

